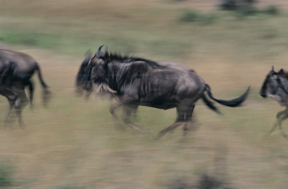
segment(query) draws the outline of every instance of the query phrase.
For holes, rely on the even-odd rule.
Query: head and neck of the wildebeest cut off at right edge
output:
[[[263,83],[263,86],[260,91],[260,95],[264,98],[267,96],[275,97],[279,96],[281,93],[279,90],[282,90],[283,94],[288,94],[287,90],[285,89],[283,85],[283,78],[282,76],[285,76],[285,72],[283,69],[280,69],[278,72],[274,71],[274,67],[271,66],[271,70],[266,76],[266,79]]]

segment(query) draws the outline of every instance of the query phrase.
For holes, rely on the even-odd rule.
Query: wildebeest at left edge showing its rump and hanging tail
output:
[[[47,105],[47,102],[50,98],[50,91],[48,89],[48,85],[46,85],[42,79],[41,71],[37,61],[30,55],[21,52],[0,49],[0,64],[3,65],[7,63],[13,64],[13,74],[7,76],[6,85],[9,87],[10,91],[18,94],[21,103],[20,106],[16,106],[15,112],[13,112],[15,100],[7,98],[10,103],[10,110],[5,122],[6,125],[10,123],[12,120],[11,118],[15,114],[19,119],[19,126],[24,129],[25,125],[22,118],[22,109],[29,102],[26,97],[25,86],[29,86],[30,103],[32,107],[34,87],[30,79],[34,75],[35,70],[38,71],[38,77],[43,87],[44,106]]]

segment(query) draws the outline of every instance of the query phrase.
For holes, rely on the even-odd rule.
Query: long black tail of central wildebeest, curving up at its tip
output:
[[[250,86],[248,87],[248,89],[245,91],[245,93],[243,93],[240,97],[238,98],[234,98],[232,100],[220,100],[217,99],[213,96],[213,94],[211,93],[211,88],[209,85],[206,84],[206,91],[208,96],[214,100],[215,102],[218,102],[219,104],[223,105],[223,106],[229,106],[229,107],[236,107],[236,106],[241,106],[241,103],[246,99],[246,97],[248,96],[249,93],[249,89]]]

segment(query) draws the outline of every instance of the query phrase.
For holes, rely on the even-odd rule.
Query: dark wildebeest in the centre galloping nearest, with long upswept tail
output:
[[[207,91],[212,100],[230,107],[239,106],[249,93],[248,88],[239,98],[219,100],[212,95],[209,85],[194,72],[168,68],[144,58],[121,56],[116,53],[109,55],[107,48],[103,58],[90,58],[84,80],[91,82],[96,92],[104,89],[118,98],[118,102],[109,108],[117,121],[119,119],[114,110],[122,105],[140,105],[164,110],[176,107],[178,116],[175,123],[160,131],[157,138],[191,121],[195,102],[199,98],[217,111],[204,95],[204,91]],[[133,128],[141,130],[136,126]]]

